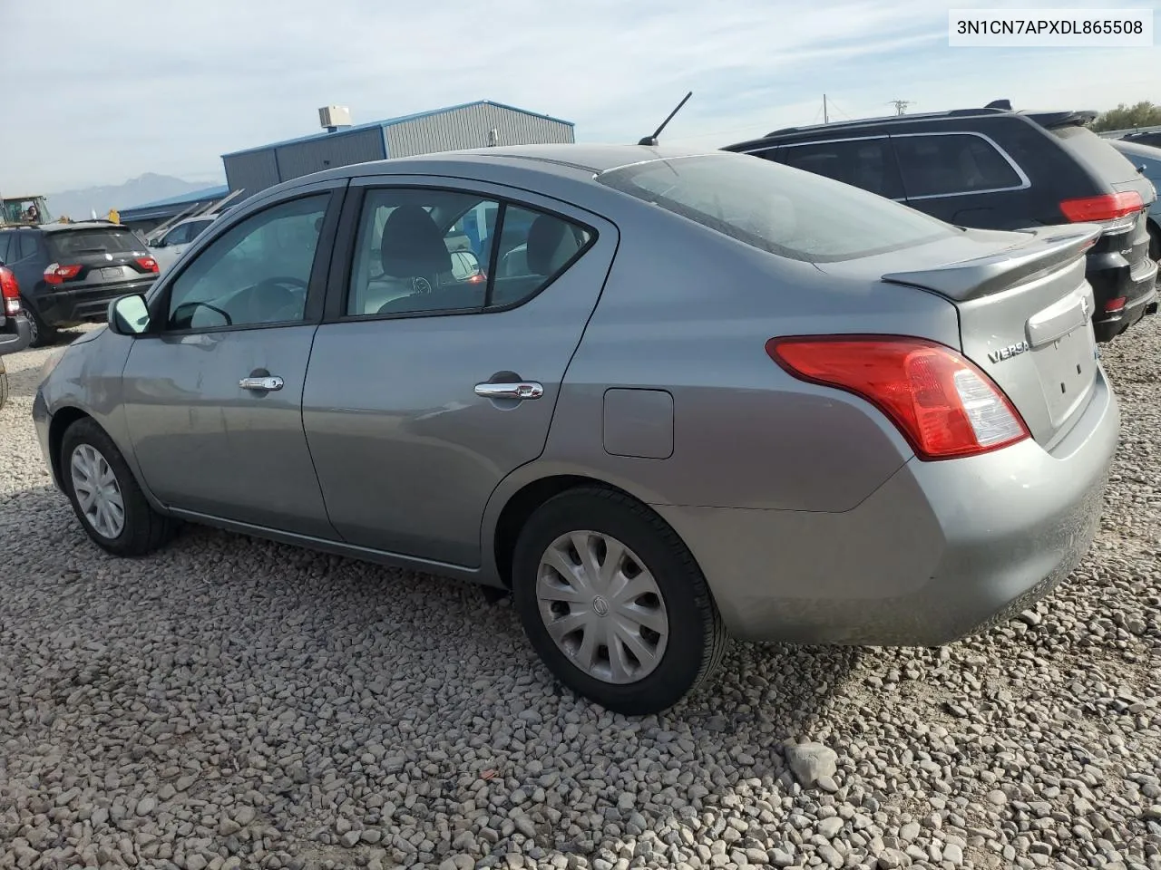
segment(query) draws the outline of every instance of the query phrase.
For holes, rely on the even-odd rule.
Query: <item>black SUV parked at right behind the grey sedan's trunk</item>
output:
[[[726,147],[861,187],[959,226],[1090,222],[1098,341],[1158,307],[1146,211],[1153,184],[1087,124],[1089,111],[959,109],[777,130]]]

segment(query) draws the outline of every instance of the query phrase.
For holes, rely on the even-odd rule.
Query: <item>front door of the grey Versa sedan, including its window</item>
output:
[[[333,538],[302,428],[341,191],[313,189],[229,225],[164,288],[125,364],[125,414],[166,505]],[[327,216],[331,220],[327,222]]]

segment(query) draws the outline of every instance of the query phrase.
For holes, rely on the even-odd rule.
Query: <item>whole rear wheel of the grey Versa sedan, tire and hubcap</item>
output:
[[[584,581],[592,572],[584,570],[577,539],[594,548],[590,564],[603,571],[612,565],[613,548],[623,546],[610,583]],[[569,582],[561,570],[541,571],[549,559],[567,570],[562,558],[575,572]],[[705,577],[682,539],[648,507],[612,490],[570,490],[532,515],[513,554],[512,595],[528,639],[553,674],[578,695],[627,716],[661,712],[695,690],[721,664],[728,641]],[[550,603],[554,596],[561,597]],[[564,597],[575,603],[562,603]],[[564,616],[570,621],[561,622]],[[562,637],[578,623],[594,626],[589,644],[584,629]],[[614,625],[618,633],[610,635]],[[622,638],[651,655],[634,655]],[[601,640],[612,640],[619,654]]]

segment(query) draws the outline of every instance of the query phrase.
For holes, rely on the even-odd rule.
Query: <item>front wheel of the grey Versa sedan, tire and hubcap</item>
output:
[[[81,467],[74,469],[74,459]],[[81,471],[88,471],[86,474]],[[93,542],[114,556],[144,556],[167,543],[176,524],[161,516],[145,500],[134,473],[104,429],[89,418],[78,420],[60,440],[60,478],[77,519]],[[98,499],[102,507],[86,510],[81,499],[93,492],[94,479],[103,483],[107,498]],[[115,486],[116,498],[110,493]],[[84,485],[87,484],[87,485]],[[78,495],[78,488],[81,494]],[[120,501],[121,509],[116,509]],[[94,502],[95,503],[95,502]],[[108,523],[120,514],[120,527]],[[95,516],[95,519],[94,519]]]

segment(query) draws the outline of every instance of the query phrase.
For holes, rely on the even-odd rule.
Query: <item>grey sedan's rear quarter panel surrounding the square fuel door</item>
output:
[[[870,404],[792,378],[765,343],[868,332],[957,345],[953,306],[823,275],[644,203],[614,219],[621,245],[526,476],[591,476],[657,505],[848,510],[913,455]],[[606,451],[614,387],[673,397],[671,455]]]

